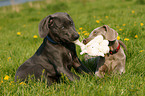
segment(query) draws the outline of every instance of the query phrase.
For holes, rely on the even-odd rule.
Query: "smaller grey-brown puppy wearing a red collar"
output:
[[[126,46],[122,41],[117,40],[118,33],[109,26],[104,25],[102,27],[94,29],[89,37],[83,40],[83,43],[87,44],[97,35],[102,35],[104,39],[109,41],[110,51],[105,55],[105,57],[100,57],[99,61],[96,62],[97,68],[95,74],[98,77],[102,78],[104,77],[105,73],[124,73],[126,55],[120,45],[122,45],[125,50]]]

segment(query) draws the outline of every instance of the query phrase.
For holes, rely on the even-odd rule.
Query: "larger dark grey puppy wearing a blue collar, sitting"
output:
[[[72,73],[71,67],[77,72],[91,72],[80,62],[73,43],[79,38],[73,20],[67,13],[55,13],[44,18],[39,24],[39,35],[44,38],[36,53],[24,62],[17,70],[15,81],[24,81],[28,76],[34,75],[41,79],[43,75],[48,85],[58,82],[61,73],[71,81],[79,80]],[[42,72],[44,70],[44,72]]]

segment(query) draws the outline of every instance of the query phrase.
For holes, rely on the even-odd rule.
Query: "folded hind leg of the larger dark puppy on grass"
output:
[[[51,85],[53,82],[52,79],[48,78],[47,72],[45,71],[45,69],[41,65],[29,66],[26,68],[25,64],[20,66],[20,68],[16,72],[15,81],[17,81],[18,79],[20,81],[27,81],[29,75],[30,75],[31,79],[34,79],[34,78],[36,80],[43,79],[42,81],[47,79],[48,85]],[[32,75],[34,75],[34,78],[32,77]]]

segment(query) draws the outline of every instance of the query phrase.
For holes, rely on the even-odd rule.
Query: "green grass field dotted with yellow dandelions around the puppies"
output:
[[[0,8],[0,95],[2,96],[143,96],[145,94],[145,6],[134,0],[47,0]],[[14,83],[17,68],[30,58],[42,43],[38,36],[40,20],[55,12],[73,18],[80,40],[104,24],[115,29],[126,44],[126,73],[103,79],[85,75],[50,87],[44,82]],[[97,21],[97,22],[96,22]],[[17,32],[18,35],[17,35]],[[33,37],[34,35],[35,38]],[[136,36],[136,37],[135,37]],[[80,48],[77,46],[79,58]],[[85,62],[84,62],[85,63]],[[72,70],[73,71],[73,70]]]

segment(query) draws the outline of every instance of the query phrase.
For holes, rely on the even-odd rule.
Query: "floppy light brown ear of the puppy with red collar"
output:
[[[108,25],[104,25],[103,26],[105,29],[106,29],[106,39],[109,40],[109,41],[114,41],[117,39],[117,36],[118,36],[118,33],[110,28]]]

